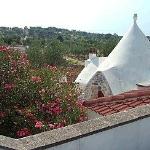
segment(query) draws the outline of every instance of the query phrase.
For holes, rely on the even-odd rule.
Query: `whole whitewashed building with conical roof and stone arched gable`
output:
[[[85,68],[75,82],[83,89],[86,99],[115,95],[137,89],[138,83],[150,80],[150,42],[133,24],[107,58],[90,54]]]

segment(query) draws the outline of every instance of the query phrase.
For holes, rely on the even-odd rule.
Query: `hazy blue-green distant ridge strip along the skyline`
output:
[[[25,37],[28,36],[30,38],[56,38],[58,36],[62,36],[64,39],[89,39],[89,40],[99,40],[99,39],[109,39],[111,37],[120,37],[117,34],[99,34],[99,33],[88,33],[83,31],[76,30],[67,30],[60,29],[55,27],[0,27],[0,37]]]

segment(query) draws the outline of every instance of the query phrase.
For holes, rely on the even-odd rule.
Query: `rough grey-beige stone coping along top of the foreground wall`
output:
[[[147,117],[150,117],[150,104],[20,139],[0,135],[0,148],[15,150],[50,148]]]

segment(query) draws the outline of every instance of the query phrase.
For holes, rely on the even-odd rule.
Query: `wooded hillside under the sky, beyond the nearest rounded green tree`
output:
[[[116,33],[88,33],[56,27],[0,27],[0,44],[26,46],[38,40],[44,46],[48,42],[57,40],[62,43],[64,54],[73,54],[77,57],[85,56],[90,49],[96,49],[99,56],[107,56],[121,37]],[[150,40],[149,36],[148,38]]]

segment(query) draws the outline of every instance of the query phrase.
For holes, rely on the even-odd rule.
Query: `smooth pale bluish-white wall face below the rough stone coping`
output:
[[[150,118],[95,133],[47,150],[150,150]]]

